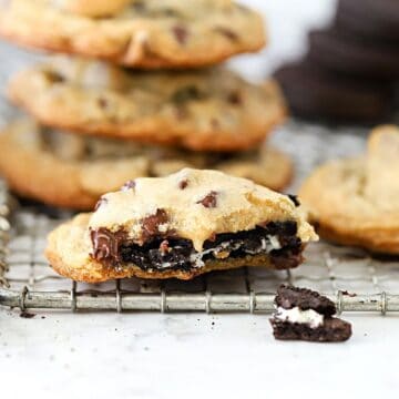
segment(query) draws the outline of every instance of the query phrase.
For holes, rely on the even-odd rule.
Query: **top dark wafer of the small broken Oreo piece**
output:
[[[287,285],[278,287],[275,303],[285,309],[294,307],[299,307],[301,310],[314,309],[324,316],[332,316],[337,313],[332,300],[314,290]]]

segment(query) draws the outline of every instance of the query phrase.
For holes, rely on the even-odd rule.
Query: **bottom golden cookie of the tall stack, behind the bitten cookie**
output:
[[[290,181],[288,155],[265,144],[239,153],[191,152],[113,139],[85,137],[20,120],[0,134],[0,174],[23,197],[91,211],[127,180],[184,167],[215,168],[280,191]],[[23,160],[23,162],[21,162]]]

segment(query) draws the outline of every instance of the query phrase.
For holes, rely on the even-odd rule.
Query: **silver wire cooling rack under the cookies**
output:
[[[0,44],[0,48],[4,47]],[[0,65],[0,86],[16,63],[29,55],[13,52]],[[17,61],[18,62],[17,62]],[[7,64],[7,68],[4,66]],[[0,122],[13,112],[0,101]],[[364,151],[366,131],[290,122],[272,139],[296,163],[295,193],[300,181],[328,158]],[[241,268],[211,273],[192,282],[126,279],[88,285],[57,275],[43,257],[45,236],[68,212],[19,205],[0,181],[0,305],[75,310],[249,311],[270,313],[282,283],[316,289],[338,311],[399,311],[399,259],[375,259],[367,253],[327,243],[309,245],[307,262],[290,272]]]

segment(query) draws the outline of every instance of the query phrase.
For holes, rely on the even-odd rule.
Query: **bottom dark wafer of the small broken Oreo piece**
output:
[[[270,319],[273,335],[280,340],[305,340],[313,342],[341,342],[351,336],[351,325],[336,317],[326,318],[319,327],[306,324]]]

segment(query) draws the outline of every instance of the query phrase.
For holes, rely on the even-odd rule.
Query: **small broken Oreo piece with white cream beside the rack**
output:
[[[332,317],[335,304],[316,291],[282,285],[275,305],[270,324],[276,339],[340,342],[351,336],[350,324]]]

